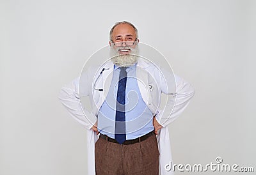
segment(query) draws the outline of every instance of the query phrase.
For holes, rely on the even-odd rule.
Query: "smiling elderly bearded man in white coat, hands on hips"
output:
[[[92,79],[90,72],[85,73],[88,78],[81,77],[88,84],[83,87],[87,92],[84,95],[92,97],[93,111],[81,109],[79,105],[79,79],[63,86],[60,93],[60,100],[71,116],[88,128],[88,173],[170,173],[164,171],[164,164],[172,160],[165,127],[186,108],[195,91],[175,75],[173,110],[170,110],[170,117],[161,122],[164,116],[158,109],[159,98],[161,93],[168,95],[170,92],[163,83],[161,70],[138,57],[138,30],[130,22],[117,22],[111,28],[109,40],[111,59],[96,72],[97,80]],[[156,81],[157,90],[147,89],[150,76]],[[109,85],[105,89],[97,88],[106,81]],[[98,133],[99,139],[95,137]]]

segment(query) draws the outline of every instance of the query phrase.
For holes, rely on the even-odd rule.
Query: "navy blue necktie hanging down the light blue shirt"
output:
[[[127,82],[127,67],[121,67],[116,97],[115,139],[122,144],[126,140],[125,134],[125,88]]]

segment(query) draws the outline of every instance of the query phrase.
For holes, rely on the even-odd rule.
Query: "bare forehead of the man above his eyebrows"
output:
[[[132,35],[136,36],[136,32],[132,26],[129,24],[120,24],[116,26],[113,30],[112,36],[126,36],[126,35]]]

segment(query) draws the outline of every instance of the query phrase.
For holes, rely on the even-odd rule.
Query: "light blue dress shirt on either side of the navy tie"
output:
[[[126,140],[136,139],[154,130],[153,114],[143,101],[136,79],[136,65],[127,69],[125,89],[125,129]],[[120,68],[114,66],[113,78],[106,100],[102,103],[98,114],[98,130],[100,133],[115,139],[116,96]],[[111,121],[111,122],[109,122]]]

